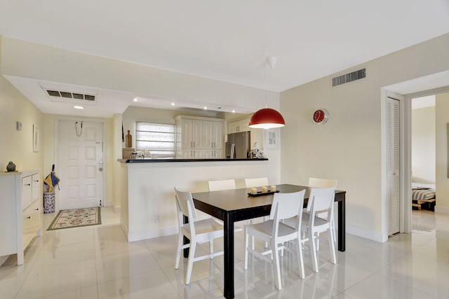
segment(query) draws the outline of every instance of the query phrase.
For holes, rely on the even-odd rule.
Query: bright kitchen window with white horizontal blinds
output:
[[[175,155],[175,125],[135,123],[135,149],[152,154]]]

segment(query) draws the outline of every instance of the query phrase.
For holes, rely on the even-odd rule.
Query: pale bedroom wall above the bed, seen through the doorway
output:
[[[412,181],[435,183],[435,106],[412,110]]]

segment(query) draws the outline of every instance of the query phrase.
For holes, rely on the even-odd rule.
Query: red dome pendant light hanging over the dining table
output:
[[[265,66],[268,62],[270,67],[273,69],[277,60],[278,57],[270,56],[265,59]],[[268,108],[267,90],[265,90],[265,108],[260,109],[253,114],[250,119],[249,127],[272,129],[274,127],[283,127],[284,125],[286,125],[286,121],[283,120],[281,113],[274,109]]]

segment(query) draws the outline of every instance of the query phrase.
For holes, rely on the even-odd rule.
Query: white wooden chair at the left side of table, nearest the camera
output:
[[[220,256],[224,252],[213,252],[213,240],[223,237],[223,225],[217,223],[212,217],[200,221],[195,221],[196,212],[192,193],[182,192],[175,188],[177,221],[179,223],[179,236],[177,239],[176,263],[175,269],[179,268],[182,249],[189,248],[189,258],[187,259],[187,273],[185,275],[185,284],[190,284],[192,277],[193,263],[206,258]],[[184,223],[184,216],[189,217],[189,223]],[[183,237],[190,240],[189,244],[182,244]],[[209,242],[210,253],[203,256],[195,256],[196,245]]]

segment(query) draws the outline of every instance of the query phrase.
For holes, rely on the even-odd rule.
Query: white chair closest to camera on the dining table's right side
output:
[[[304,194],[305,190],[296,193],[274,193],[269,220],[262,223],[248,224],[244,227],[244,270],[248,269],[248,253],[262,258],[269,263],[273,263],[276,274],[276,288],[279,290],[282,288],[279,251],[283,249],[290,251],[288,246],[284,246],[286,242],[293,241],[297,244],[297,250],[292,252],[297,253],[300,277],[304,278],[304,258],[302,255],[302,241],[300,237]],[[297,219],[295,227],[286,225],[282,222],[284,219],[292,217],[296,217]],[[251,246],[249,244],[250,235],[257,237],[257,239],[261,239],[264,242],[268,242],[269,250],[262,252],[256,251],[254,242],[252,242]]]

